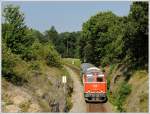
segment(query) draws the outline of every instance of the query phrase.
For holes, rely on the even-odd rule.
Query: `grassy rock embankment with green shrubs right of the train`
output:
[[[117,112],[148,111],[148,73],[130,70],[123,65],[111,65],[108,76],[109,102]]]

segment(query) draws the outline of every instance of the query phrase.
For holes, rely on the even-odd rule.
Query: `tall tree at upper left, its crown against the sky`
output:
[[[7,46],[16,54],[21,54],[26,46],[31,45],[33,39],[27,37],[27,27],[24,24],[24,14],[20,12],[20,8],[8,5],[4,8],[3,16],[5,23],[3,24],[2,34],[6,40]]]

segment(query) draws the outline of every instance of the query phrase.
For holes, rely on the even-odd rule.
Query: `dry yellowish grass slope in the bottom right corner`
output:
[[[148,73],[146,70],[136,70],[129,83],[132,85],[132,92],[126,100],[127,111],[148,112]],[[135,108],[131,107],[134,106]]]

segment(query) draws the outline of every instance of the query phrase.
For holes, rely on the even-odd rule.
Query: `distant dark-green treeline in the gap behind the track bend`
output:
[[[58,33],[54,26],[44,32],[45,42],[49,40],[60,53],[61,57],[79,58],[79,39],[81,32]],[[41,39],[43,40],[43,38]]]

